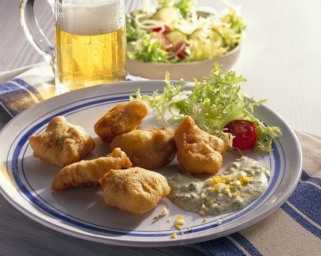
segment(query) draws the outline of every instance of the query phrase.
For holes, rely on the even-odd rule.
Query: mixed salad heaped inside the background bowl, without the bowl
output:
[[[127,57],[143,62],[191,62],[213,59],[234,49],[245,29],[240,6],[228,1],[220,13],[198,7],[198,0],[146,0],[140,11],[127,13]]]

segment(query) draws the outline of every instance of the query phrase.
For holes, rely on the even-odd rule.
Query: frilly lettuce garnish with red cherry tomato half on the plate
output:
[[[247,101],[240,87],[245,81],[235,71],[224,73],[214,62],[211,77],[203,77],[202,82],[194,78],[191,90],[187,90],[191,83],[184,84],[183,79],[176,85],[170,83],[167,72],[162,93],[156,90],[153,95],[141,95],[138,89],[130,100],[142,100],[155,108],[165,126],[171,126],[166,119],[168,113],[174,119],[189,115],[199,128],[223,139],[229,149],[271,152],[272,141],[282,135],[281,129],[265,126],[253,115],[253,107],[266,100]]]

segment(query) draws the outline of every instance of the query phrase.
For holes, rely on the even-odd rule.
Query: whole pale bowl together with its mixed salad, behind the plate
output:
[[[237,61],[246,24],[241,6],[223,1],[218,12],[197,1],[146,1],[141,9],[126,15],[127,69],[148,79],[202,80],[213,62],[230,70]],[[218,7],[218,6],[217,6]],[[193,74],[193,75],[192,75]]]

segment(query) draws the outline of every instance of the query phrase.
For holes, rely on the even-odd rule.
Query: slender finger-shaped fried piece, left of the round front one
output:
[[[62,191],[71,187],[99,186],[99,179],[110,169],[129,168],[132,163],[126,154],[115,148],[106,157],[93,160],[82,160],[61,169],[51,184],[54,191]]]

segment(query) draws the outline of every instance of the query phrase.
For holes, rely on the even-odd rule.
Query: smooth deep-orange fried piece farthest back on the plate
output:
[[[95,123],[95,133],[103,141],[112,141],[117,134],[135,130],[147,114],[148,106],[143,101],[118,103]]]

